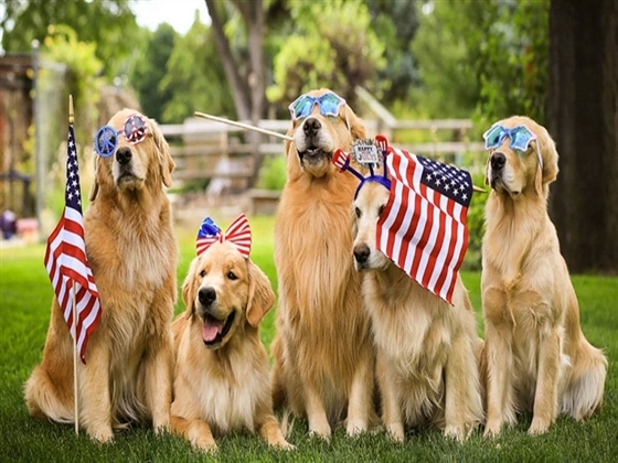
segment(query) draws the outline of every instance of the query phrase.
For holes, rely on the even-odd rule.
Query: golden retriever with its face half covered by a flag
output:
[[[353,254],[371,314],[383,422],[394,441],[404,440],[406,427],[424,424],[462,441],[483,421],[482,341],[472,305],[459,276],[451,306],[377,249],[388,195],[370,181],[353,204]]]

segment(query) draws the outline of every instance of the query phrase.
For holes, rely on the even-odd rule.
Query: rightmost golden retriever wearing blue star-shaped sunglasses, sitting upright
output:
[[[539,434],[558,413],[582,420],[600,407],[607,359],[582,333],[577,298],[546,209],[548,184],[558,173],[554,141],[526,117],[497,122],[486,138],[491,193],[481,279],[484,435],[498,435],[520,411],[533,412],[529,433]]]

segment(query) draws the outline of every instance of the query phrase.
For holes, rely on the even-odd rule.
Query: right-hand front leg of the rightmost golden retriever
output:
[[[557,389],[562,347],[562,329],[542,330],[539,340],[539,369],[534,392],[534,413],[530,434],[546,432],[556,418]]]

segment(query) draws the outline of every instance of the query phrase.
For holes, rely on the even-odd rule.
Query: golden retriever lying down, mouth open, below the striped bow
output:
[[[173,323],[175,373],[171,424],[213,452],[216,435],[257,431],[292,449],[273,413],[268,355],[258,326],[275,302],[268,278],[230,243],[196,257],[182,286],[187,311]]]

